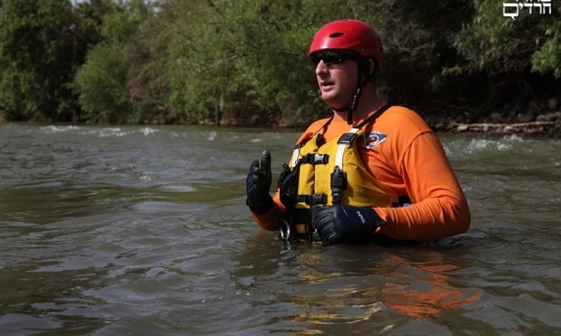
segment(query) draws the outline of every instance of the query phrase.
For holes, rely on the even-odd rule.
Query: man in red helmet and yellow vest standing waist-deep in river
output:
[[[337,20],[311,41],[321,98],[333,111],[298,139],[273,197],[271,156],[252,162],[247,204],[283,239],[430,242],[466,232],[470,211],[442,144],[424,120],[377,95],[379,35]]]

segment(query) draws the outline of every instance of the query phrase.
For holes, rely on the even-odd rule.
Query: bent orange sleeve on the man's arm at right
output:
[[[398,239],[434,240],[468,230],[468,202],[432,131],[415,137],[396,166],[412,205],[374,208],[386,221],[377,233]]]

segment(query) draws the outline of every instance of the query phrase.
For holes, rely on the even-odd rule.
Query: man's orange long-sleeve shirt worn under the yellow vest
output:
[[[327,119],[311,124],[299,141],[320,130]],[[346,120],[333,119],[323,134],[326,141],[351,129]],[[408,195],[407,207],[375,207],[386,221],[376,234],[396,239],[429,241],[466,232],[471,217],[468,203],[454,176],[440,140],[414,111],[392,106],[365,126],[357,139],[369,172],[398,195]],[[253,215],[265,230],[278,230],[284,207],[278,190],[273,209]]]

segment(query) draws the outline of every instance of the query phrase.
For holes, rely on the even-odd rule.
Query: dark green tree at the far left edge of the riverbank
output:
[[[70,118],[74,25],[68,0],[2,3],[0,110],[8,120]]]

